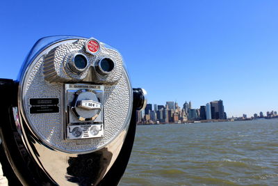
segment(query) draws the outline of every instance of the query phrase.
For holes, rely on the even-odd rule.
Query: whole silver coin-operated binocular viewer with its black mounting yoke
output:
[[[119,183],[146,99],[116,49],[95,38],[42,38],[0,91],[0,162],[10,185]]]

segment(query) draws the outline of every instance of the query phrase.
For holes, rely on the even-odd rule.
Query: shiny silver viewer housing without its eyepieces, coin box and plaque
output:
[[[38,166],[58,185],[82,185],[83,181],[84,184],[97,184],[120,153],[131,118],[131,84],[122,66],[120,53],[99,42],[100,49],[95,55],[86,54],[83,51],[86,40],[78,37],[67,37],[66,40],[53,38],[53,42],[47,40],[47,47],[41,48],[43,43],[38,42],[38,46],[33,48],[35,54],[31,51],[31,56],[27,57],[19,79],[19,130],[22,141]],[[81,75],[65,68],[68,54],[75,52],[83,52],[89,59],[88,68]],[[116,65],[104,77],[95,72],[95,60],[107,54]],[[61,60],[64,62],[60,63]],[[103,137],[65,139],[67,114],[70,111],[67,109],[65,84],[69,83],[74,83],[72,86],[75,83],[84,86],[104,84]],[[58,98],[58,113],[31,114],[31,98]],[[100,126],[92,124],[88,131],[97,136]],[[76,130],[76,135],[79,135],[79,131]]]

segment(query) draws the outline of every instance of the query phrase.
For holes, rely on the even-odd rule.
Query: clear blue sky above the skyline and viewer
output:
[[[278,1],[3,1],[0,77],[33,44],[95,37],[118,49],[149,102],[223,100],[228,116],[278,111]]]

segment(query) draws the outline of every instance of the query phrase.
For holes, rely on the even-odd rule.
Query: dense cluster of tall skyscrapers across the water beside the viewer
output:
[[[153,107],[154,105],[154,107]],[[167,101],[163,104],[148,103],[142,111],[137,111],[136,123],[187,123],[195,121],[227,121],[222,100],[215,100],[202,105],[199,109],[192,107],[191,101],[181,107],[177,102]]]

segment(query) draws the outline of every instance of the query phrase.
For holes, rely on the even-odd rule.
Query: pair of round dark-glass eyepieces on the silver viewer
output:
[[[88,58],[84,54],[75,54],[68,63],[70,70],[76,74],[84,72],[88,68]],[[100,75],[108,75],[115,67],[114,61],[102,58],[97,61],[96,70]]]

